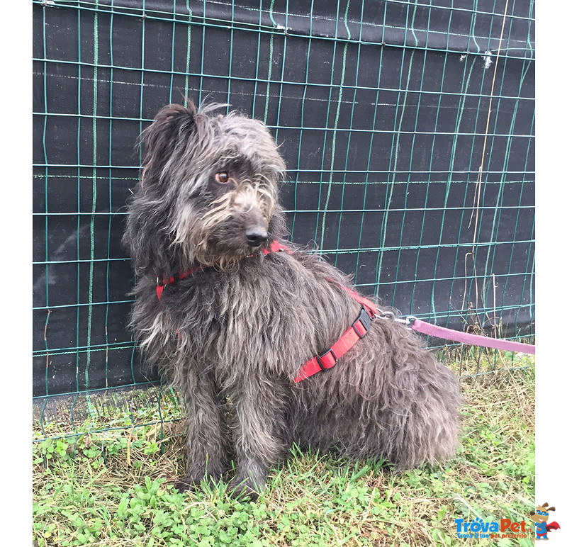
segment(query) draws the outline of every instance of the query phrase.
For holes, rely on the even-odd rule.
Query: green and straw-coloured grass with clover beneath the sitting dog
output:
[[[464,375],[511,364],[453,358]],[[461,381],[462,446],[443,466],[393,473],[293,449],[257,502],[232,500],[223,483],[194,494],[173,489],[184,465],[173,396],[161,398],[159,413],[140,405],[72,427],[54,420],[34,430],[36,439],[48,437],[33,444],[34,545],[532,545],[532,534],[458,538],[454,522],[522,521],[533,508],[533,359],[512,364],[526,368]]]

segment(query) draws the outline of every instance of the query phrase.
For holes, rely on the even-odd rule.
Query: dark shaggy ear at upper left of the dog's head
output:
[[[159,173],[176,147],[189,140],[195,128],[196,108],[191,101],[164,106],[150,126],[142,131],[138,144],[142,147],[144,179],[147,174]]]

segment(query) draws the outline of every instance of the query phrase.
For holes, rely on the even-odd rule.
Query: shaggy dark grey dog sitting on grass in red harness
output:
[[[400,469],[449,458],[456,378],[343,273],[279,247],[283,159],[263,123],[219,106],[166,106],[142,132],[123,239],[142,353],[187,408],[177,487],[218,479],[234,459],[232,489],[254,497],[293,442]],[[339,352],[347,332],[357,343]],[[322,371],[301,380],[307,362]]]

